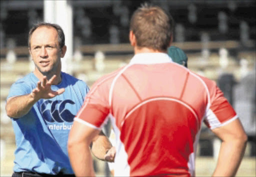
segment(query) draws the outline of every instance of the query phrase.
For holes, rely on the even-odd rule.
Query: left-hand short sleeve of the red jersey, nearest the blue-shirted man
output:
[[[95,82],[86,95],[74,121],[101,130],[109,113],[108,93],[109,88],[104,80]]]

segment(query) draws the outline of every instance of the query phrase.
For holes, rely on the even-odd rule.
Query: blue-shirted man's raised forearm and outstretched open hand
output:
[[[46,80],[46,76],[43,77],[42,82],[37,82],[37,87],[32,90],[30,94],[10,97],[5,105],[6,114],[11,118],[20,118],[28,113],[34,103],[39,99],[53,98],[64,92],[64,89],[57,91],[51,90],[51,84],[56,76],[52,76],[49,81]]]

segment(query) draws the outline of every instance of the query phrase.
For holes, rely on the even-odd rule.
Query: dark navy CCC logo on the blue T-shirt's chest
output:
[[[43,119],[47,122],[73,122],[74,115],[69,110],[65,109],[67,103],[74,105],[74,102],[71,100],[44,101],[40,106]],[[51,105],[50,109],[46,109],[48,104]]]

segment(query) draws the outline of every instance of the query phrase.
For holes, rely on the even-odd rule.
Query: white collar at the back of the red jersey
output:
[[[171,63],[172,59],[166,53],[137,53],[129,64]]]

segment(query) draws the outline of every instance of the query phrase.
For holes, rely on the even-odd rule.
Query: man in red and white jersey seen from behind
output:
[[[93,84],[74,119],[68,153],[76,176],[94,176],[88,146],[108,119],[116,135],[115,176],[195,176],[203,122],[222,140],[213,176],[235,175],[246,134],[215,82],[167,55],[172,29],[160,7],[145,4],[133,13],[135,55]]]

